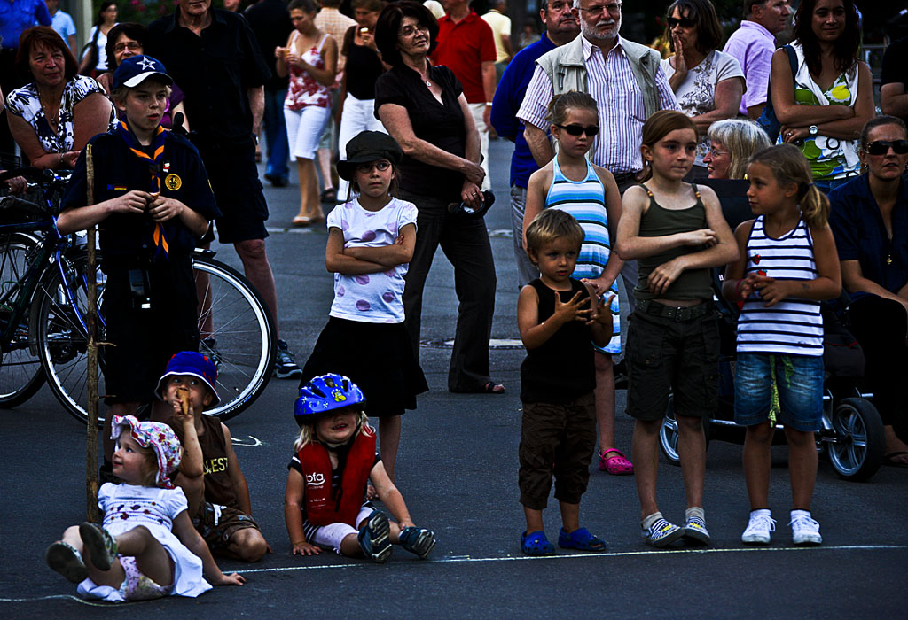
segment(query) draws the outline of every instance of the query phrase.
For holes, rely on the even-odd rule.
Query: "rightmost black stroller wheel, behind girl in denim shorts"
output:
[[[827,449],[835,472],[845,480],[868,480],[883,463],[883,421],[864,398],[845,398],[833,410],[834,440]]]

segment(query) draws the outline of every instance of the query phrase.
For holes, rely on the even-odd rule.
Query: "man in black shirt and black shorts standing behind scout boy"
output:
[[[258,41],[241,15],[212,9],[211,0],[179,0],[173,15],[148,30],[152,53],[186,94],[193,142],[222,212],[215,220],[221,242],[236,248],[277,329],[277,295],[264,240],[268,206],[255,166],[263,85],[271,77]],[[275,374],[281,379],[302,374],[280,336]]]

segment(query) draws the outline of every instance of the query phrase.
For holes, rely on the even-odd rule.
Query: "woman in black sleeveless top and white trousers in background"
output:
[[[382,6],[384,3],[381,0],[353,0],[353,15],[357,24],[350,26],[341,43],[341,55],[347,58],[341,93],[341,129],[338,132],[341,161],[347,159],[347,142],[360,131],[386,132],[381,121],[375,118],[375,81],[389,68],[381,62],[381,54],[375,44],[375,24],[379,21]],[[349,189],[350,181],[341,179],[338,198],[350,199]]]

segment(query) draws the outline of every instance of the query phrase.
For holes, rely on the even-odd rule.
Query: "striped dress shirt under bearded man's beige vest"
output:
[[[643,168],[640,143],[646,111],[643,92],[631,71],[621,37],[605,56],[597,45],[583,37],[583,57],[587,65],[587,92],[597,102],[599,127],[602,128],[593,145],[593,163],[613,174],[637,172]],[[661,110],[680,111],[661,67],[656,71],[656,90]],[[537,65],[517,113],[518,119],[548,130],[546,113],[553,92],[548,75]]]

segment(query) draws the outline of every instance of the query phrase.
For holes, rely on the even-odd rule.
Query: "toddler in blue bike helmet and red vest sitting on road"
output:
[[[365,404],[356,383],[339,374],[323,374],[300,388],[293,410],[300,436],[284,493],[294,555],[316,555],[324,548],[384,562],[392,543],[421,558],[435,546],[435,534],[414,526],[375,452]],[[397,523],[364,500],[369,481]]]

